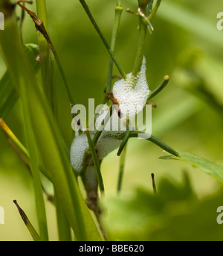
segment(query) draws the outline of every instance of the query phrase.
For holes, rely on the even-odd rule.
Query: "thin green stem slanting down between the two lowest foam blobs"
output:
[[[97,181],[98,181],[98,184],[99,184],[100,193],[104,193],[105,192],[104,182],[103,182],[103,177],[102,177],[101,172],[100,172],[100,163],[97,159],[97,154],[96,154],[96,151],[94,149],[94,143],[91,140],[91,135],[90,135],[90,132],[88,130],[86,131],[86,134],[87,134],[87,137],[88,137],[88,145],[89,145],[89,149],[91,151],[91,156],[93,158],[94,166],[95,166],[96,171],[97,171]]]

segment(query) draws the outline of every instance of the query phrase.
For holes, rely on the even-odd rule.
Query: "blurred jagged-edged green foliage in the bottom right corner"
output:
[[[222,240],[221,198],[222,190],[198,200],[187,175],[181,184],[163,179],[156,195],[141,187],[132,196],[104,199],[103,222],[111,240]]]

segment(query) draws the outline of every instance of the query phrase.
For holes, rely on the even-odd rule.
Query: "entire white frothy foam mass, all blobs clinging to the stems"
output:
[[[129,73],[126,80],[121,79],[120,81],[114,83],[113,94],[120,104],[120,111],[124,117],[120,119],[117,115],[117,111],[114,110],[112,116],[105,125],[103,132],[97,141],[97,145],[95,146],[97,156],[100,160],[120,146],[121,140],[125,133],[123,129],[123,121],[126,120],[126,117],[135,115],[146,105],[150,91],[146,81],[145,57],[143,57],[141,70],[137,77],[132,78],[131,75],[132,73]],[[108,108],[105,110],[109,111]],[[104,117],[105,115],[100,113],[100,116],[96,119],[96,127],[100,127]],[[91,131],[92,139],[94,134],[95,132]],[[88,148],[88,138],[85,133],[75,137],[73,143],[71,144],[71,165],[78,173],[83,171],[85,150]]]

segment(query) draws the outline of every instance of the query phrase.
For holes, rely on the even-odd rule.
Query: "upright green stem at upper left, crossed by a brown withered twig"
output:
[[[45,25],[45,30],[49,34],[46,1],[36,0],[36,9],[37,16],[42,20]],[[54,85],[51,79],[51,48],[41,33],[39,33],[39,57],[42,70],[43,88],[48,98],[48,102],[50,103],[52,110],[54,110]]]

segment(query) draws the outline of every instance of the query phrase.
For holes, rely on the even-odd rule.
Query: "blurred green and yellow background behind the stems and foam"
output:
[[[129,7],[136,11],[138,4],[136,0],[123,0],[122,3],[124,11],[115,54],[125,72],[131,72],[138,39],[138,18],[125,10]],[[100,104],[106,87],[108,52],[79,1],[48,0],[47,4],[51,39],[62,61],[74,99],[85,106],[88,106],[88,99],[95,99],[95,104]],[[88,5],[109,41],[115,1],[91,0]],[[35,4],[29,7],[36,11]],[[216,28],[216,15],[221,11],[221,0],[164,0],[152,21],[155,31],[152,35],[148,34],[145,51],[149,89],[154,90],[164,75],[170,77],[167,88],[152,99],[158,106],[152,110],[152,134],[173,149],[198,154],[219,164],[223,163],[223,31]],[[18,7],[17,14],[20,14]],[[25,18],[23,38],[25,43],[38,43],[36,29],[28,16]],[[0,57],[1,75],[4,70]],[[114,69],[114,74],[118,74],[117,69]],[[56,66],[54,84],[60,128],[65,142],[71,145],[71,110]],[[24,142],[20,102],[16,103],[4,121]],[[0,205],[4,207],[5,214],[5,224],[0,225],[0,240],[32,240],[13,205],[13,199],[16,199],[36,226],[30,175],[1,131],[0,143]],[[116,153],[109,154],[102,163],[107,196],[116,194],[119,165]],[[214,178],[188,163],[159,160],[158,157],[163,154],[152,143],[132,139],[127,146],[123,193],[131,194],[136,187],[152,191],[152,172],[155,173],[157,187],[164,178],[181,183],[183,173],[187,172],[198,199],[218,193],[221,187]],[[51,184],[44,183],[51,191]],[[57,240],[54,207],[46,202],[46,209],[50,240]],[[215,207],[209,210],[216,213]],[[217,224],[216,228],[219,228]]]

